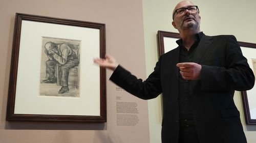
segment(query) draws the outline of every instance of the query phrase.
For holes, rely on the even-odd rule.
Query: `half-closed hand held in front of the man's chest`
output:
[[[197,63],[178,63],[176,65],[180,69],[180,74],[185,80],[201,79],[202,66]]]

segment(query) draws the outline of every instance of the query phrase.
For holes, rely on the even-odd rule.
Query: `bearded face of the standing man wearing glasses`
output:
[[[183,1],[175,7],[175,10],[180,8],[187,8],[189,6],[194,6],[194,4],[189,1]],[[200,19],[201,17],[199,16],[198,10],[195,10],[195,11],[185,10],[181,14],[178,14],[178,13],[174,14],[174,21],[172,24],[175,28],[178,29],[178,31],[186,30],[189,28],[194,28],[195,30],[197,30],[199,29],[199,26],[200,26]]]

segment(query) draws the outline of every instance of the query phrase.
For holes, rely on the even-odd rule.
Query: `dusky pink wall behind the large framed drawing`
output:
[[[105,23],[106,52],[115,56],[119,63],[138,77],[145,78],[142,2],[138,0],[1,0],[0,2],[0,142],[125,142],[118,137],[119,134],[111,130],[113,128],[111,121],[115,112],[112,107],[116,97],[113,96],[115,85],[108,80],[108,123],[6,121],[15,13]],[[111,73],[107,70],[107,79]],[[132,97],[132,100],[138,99]],[[147,102],[140,100],[139,102],[147,107]],[[147,118],[147,108],[144,115]],[[145,122],[145,130],[148,131],[147,123]],[[124,136],[128,139],[134,134]],[[135,135],[134,141],[138,142],[140,136],[141,134]]]

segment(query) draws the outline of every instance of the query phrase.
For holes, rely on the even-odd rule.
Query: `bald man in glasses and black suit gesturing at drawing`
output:
[[[142,98],[163,96],[163,143],[244,143],[234,90],[250,90],[254,75],[234,36],[206,36],[199,9],[189,1],[173,11],[178,47],[160,56],[154,72],[142,82],[115,59],[95,59],[114,70],[111,80]]]

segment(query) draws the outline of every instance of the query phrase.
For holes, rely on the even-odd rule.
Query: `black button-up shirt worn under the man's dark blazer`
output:
[[[179,63],[192,62],[195,52],[197,50],[198,43],[203,36],[203,32],[196,34],[195,43],[187,50],[182,45],[182,39],[177,40],[177,44],[180,48]],[[192,93],[189,91],[189,80],[182,78],[179,74],[179,115],[180,120],[193,120],[192,106],[191,106]]]

